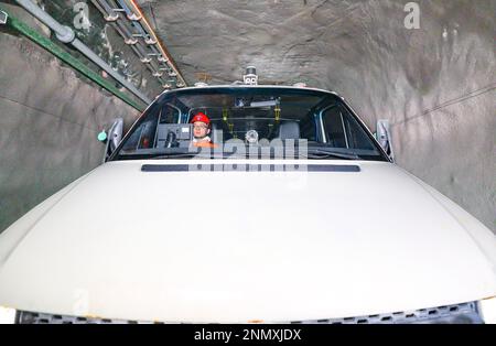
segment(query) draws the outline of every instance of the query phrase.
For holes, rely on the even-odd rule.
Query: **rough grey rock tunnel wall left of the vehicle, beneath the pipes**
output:
[[[137,116],[28,39],[0,32],[0,231],[99,165],[98,132]]]

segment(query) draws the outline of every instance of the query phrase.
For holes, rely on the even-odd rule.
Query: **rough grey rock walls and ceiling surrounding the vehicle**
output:
[[[496,231],[496,0],[417,1],[419,29],[406,28],[408,2],[138,1],[190,85],[230,84],[255,65],[259,84],[337,91],[373,131],[389,119],[398,165]],[[14,1],[0,6],[50,36]],[[89,13],[106,32],[100,54],[126,55],[153,98],[160,85]],[[0,231],[99,165],[97,133],[138,115],[0,25]]]

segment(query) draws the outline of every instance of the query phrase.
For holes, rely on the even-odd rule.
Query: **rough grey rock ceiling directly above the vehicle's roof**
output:
[[[364,1],[140,1],[190,84],[233,83],[255,65],[263,84],[322,86],[334,41],[358,34]],[[339,41],[339,42],[337,42]]]

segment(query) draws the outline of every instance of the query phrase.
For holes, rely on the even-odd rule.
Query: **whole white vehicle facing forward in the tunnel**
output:
[[[495,295],[493,233],[304,87],[166,91],[0,235],[17,323],[490,323]]]

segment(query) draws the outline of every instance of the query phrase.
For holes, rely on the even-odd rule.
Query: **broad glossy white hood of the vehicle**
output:
[[[495,236],[395,164],[142,171],[185,162],[195,163],[106,163],[13,224],[0,235],[0,305],[133,321],[285,322],[496,294]]]

